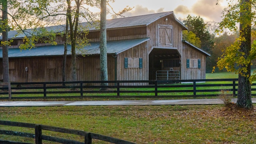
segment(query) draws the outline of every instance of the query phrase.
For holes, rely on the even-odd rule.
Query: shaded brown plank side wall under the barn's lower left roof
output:
[[[62,81],[62,56],[9,58],[11,82],[58,82]],[[67,57],[66,81],[71,81],[71,57]],[[28,67],[26,72],[25,67]],[[2,59],[0,60],[2,79]],[[78,80],[100,80],[99,56],[79,57]],[[108,79],[115,79],[115,58],[108,56]]]

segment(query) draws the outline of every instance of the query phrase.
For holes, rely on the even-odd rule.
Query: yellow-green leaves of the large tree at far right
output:
[[[255,1],[252,0],[250,2],[246,2],[244,5],[241,4],[231,4],[229,3],[229,7],[225,8],[222,12],[224,15],[223,21],[220,22],[220,29],[216,30],[216,32],[223,32],[225,29],[229,30],[238,30],[237,23],[244,24],[242,26],[250,26],[251,19],[254,17],[255,13],[248,13],[244,7],[248,7],[250,4],[255,4]],[[249,6],[250,7],[250,6]],[[245,12],[243,16],[240,16],[240,13]],[[256,42],[254,41],[251,45],[251,49],[249,54],[246,56],[246,53],[241,50],[242,42],[246,42],[244,37],[245,27],[240,28],[240,37],[236,39],[234,44],[227,47],[224,54],[222,54],[221,58],[217,62],[217,66],[222,70],[226,68],[227,71],[236,72],[237,74],[241,74],[245,77],[250,77],[249,74],[245,74],[247,72],[247,67],[251,66],[251,61],[256,58]],[[254,33],[252,33],[254,34]],[[242,67],[238,67],[242,66]],[[254,74],[255,75],[255,74]],[[255,76],[250,77],[250,80],[254,79]]]

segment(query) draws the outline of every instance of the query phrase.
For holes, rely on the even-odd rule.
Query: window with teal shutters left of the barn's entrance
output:
[[[142,68],[142,58],[124,58],[124,68]]]

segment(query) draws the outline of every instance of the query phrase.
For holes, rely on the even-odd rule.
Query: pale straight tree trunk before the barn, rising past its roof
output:
[[[100,2],[100,80],[108,80],[108,62],[107,62],[107,32],[106,32],[106,0]],[[102,83],[102,86],[108,86],[108,83]],[[106,88],[101,88],[106,90]]]

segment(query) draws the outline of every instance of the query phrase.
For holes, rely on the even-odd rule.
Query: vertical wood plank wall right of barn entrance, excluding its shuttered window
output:
[[[206,55],[184,43],[182,58],[182,80],[205,79]],[[201,68],[187,68],[187,59],[200,59]]]

